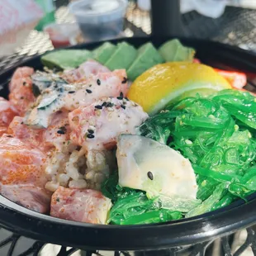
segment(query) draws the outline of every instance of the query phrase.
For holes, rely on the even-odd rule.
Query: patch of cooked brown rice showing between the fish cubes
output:
[[[50,181],[45,188],[55,192],[59,186],[70,188],[92,188],[100,190],[102,182],[109,177],[115,167],[115,154],[107,150],[83,149],[73,150],[69,145],[68,152],[55,152],[45,172]],[[70,153],[71,154],[70,154]]]

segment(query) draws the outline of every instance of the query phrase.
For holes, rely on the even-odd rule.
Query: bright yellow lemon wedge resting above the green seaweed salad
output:
[[[169,102],[184,97],[210,95],[231,88],[225,78],[204,64],[170,62],[155,65],[132,83],[130,100],[137,102],[150,115],[163,109]]]

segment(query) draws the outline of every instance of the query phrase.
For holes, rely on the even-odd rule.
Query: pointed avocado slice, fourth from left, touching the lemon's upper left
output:
[[[135,78],[139,77],[140,74],[144,73],[147,69],[163,62],[163,57],[159,55],[159,52],[154,48],[154,45],[146,43],[145,45],[140,46],[137,58],[127,70],[127,76],[130,80],[134,81]]]

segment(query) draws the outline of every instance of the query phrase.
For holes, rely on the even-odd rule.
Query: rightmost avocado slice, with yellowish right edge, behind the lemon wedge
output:
[[[159,48],[159,54],[166,62],[190,61],[192,62],[196,51],[193,48],[183,46],[178,39],[168,40]]]

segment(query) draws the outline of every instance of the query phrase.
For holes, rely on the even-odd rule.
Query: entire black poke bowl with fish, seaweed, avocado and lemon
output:
[[[253,225],[255,60],[207,40],[147,37],[7,69],[0,225],[114,250],[194,244]]]

